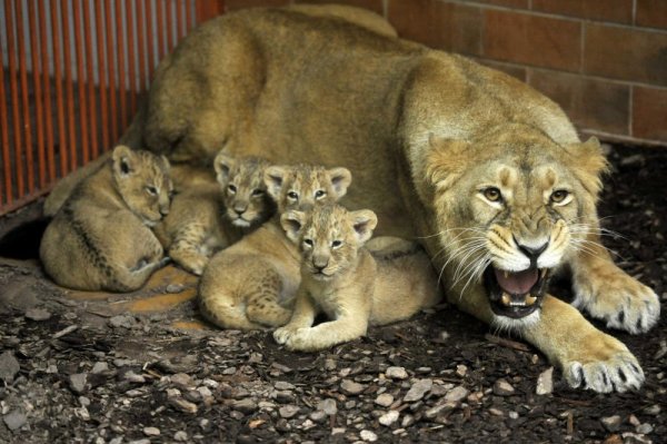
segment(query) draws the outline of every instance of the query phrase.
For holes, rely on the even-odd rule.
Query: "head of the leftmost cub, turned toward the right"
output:
[[[113,148],[111,159],[113,182],[126,205],[143,224],[155,226],[169,214],[173,191],[169,160],[125,145]]]

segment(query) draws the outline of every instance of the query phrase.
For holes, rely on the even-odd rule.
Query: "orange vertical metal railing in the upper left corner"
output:
[[[0,0],[0,215],[118,140],[158,61],[222,0]]]

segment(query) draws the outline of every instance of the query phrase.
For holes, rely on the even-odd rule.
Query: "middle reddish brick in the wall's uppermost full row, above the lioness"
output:
[[[484,14],[485,57],[567,71],[579,70],[579,22],[498,10],[486,10]]]

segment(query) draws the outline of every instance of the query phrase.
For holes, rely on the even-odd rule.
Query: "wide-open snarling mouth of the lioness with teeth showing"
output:
[[[548,268],[506,272],[490,265],[484,273],[484,280],[491,309],[498,316],[528,316],[541,306],[549,277]]]

